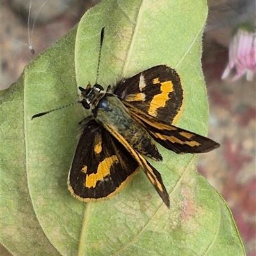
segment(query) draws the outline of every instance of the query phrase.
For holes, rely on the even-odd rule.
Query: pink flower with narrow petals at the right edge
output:
[[[236,76],[232,81],[246,74],[246,79],[252,81],[256,72],[256,31],[245,26],[239,28],[229,45],[228,65],[221,79],[225,79],[234,68]]]

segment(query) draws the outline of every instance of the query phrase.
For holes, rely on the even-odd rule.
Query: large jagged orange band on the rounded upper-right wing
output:
[[[148,109],[149,115],[156,116],[157,109],[165,106],[166,101],[169,99],[169,93],[173,92],[172,81],[166,81],[161,83],[160,90],[161,93],[155,95],[150,102],[150,106]]]

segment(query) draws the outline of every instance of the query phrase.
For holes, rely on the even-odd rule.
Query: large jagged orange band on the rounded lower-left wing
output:
[[[86,175],[85,186],[86,188],[95,188],[99,180],[103,180],[104,177],[110,174],[111,166],[118,162],[116,155],[106,157],[102,162],[100,162],[97,173],[92,173]]]

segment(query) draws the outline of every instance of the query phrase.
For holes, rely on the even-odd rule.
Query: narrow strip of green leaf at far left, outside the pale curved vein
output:
[[[1,99],[1,243],[13,255],[60,255],[36,218],[28,191],[24,74]],[[33,253],[33,254],[32,254]]]

